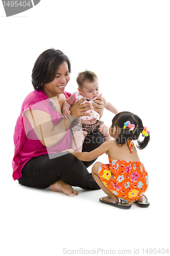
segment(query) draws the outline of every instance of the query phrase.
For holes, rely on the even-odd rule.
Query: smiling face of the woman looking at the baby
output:
[[[65,61],[59,67],[55,78],[49,83],[43,84],[43,90],[49,98],[55,97],[65,91],[70,80],[68,63]]]

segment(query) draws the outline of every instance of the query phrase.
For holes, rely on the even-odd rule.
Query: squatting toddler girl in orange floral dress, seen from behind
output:
[[[140,134],[144,137],[142,141],[138,139]],[[143,127],[137,115],[120,112],[112,120],[110,135],[115,140],[105,141],[89,153],[67,151],[81,161],[91,161],[108,153],[109,164],[96,162],[92,167],[95,181],[108,195],[100,198],[100,202],[122,209],[129,209],[132,202],[148,207],[150,204],[143,196],[148,186],[148,175],[132,140],[138,139],[137,147],[142,150],[150,141],[150,132]]]

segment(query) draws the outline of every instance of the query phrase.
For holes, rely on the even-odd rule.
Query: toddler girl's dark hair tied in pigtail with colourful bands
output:
[[[130,121],[131,124],[135,124],[135,128],[133,131],[129,129],[129,127],[126,127],[123,129],[124,123]],[[139,135],[143,131],[144,127],[142,124],[142,120],[135,114],[124,111],[118,113],[112,120],[112,128],[113,127],[119,127],[120,134],[119,137],[116,138],[116,143],[119,144],[125,144],[128,140],[137,140],[139,138]],[[147,137],[144,137],[143,141],[138,140],[137,147],[140,150],[143,150],[147,146],[147,143],[150,141],[150,135]]]

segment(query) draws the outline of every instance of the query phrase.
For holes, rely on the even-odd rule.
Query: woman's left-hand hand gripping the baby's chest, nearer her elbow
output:
[[[89,113],[84,113],[84,111],[91,110],[92,103],[84,103],[81,104],[84,101],[84,99],[78,100],[75,104],[73,104],[70,108],[70,114],[71,116],[89,116]]]

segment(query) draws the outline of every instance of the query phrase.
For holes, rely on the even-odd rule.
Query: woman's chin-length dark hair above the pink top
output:
[[[54,80],[59,67],[63,62],[68,63],[69,74],[71,73],[71,63],[69,58],[60,50],[54,48],[42,52],[35,61],[32,70],[32,84],[35,90],[41,90],[41,84]]]

